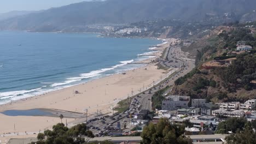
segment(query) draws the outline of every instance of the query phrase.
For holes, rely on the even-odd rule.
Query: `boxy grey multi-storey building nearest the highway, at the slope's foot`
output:
[[[162,110],[171,111],[188,108],[189,101],[190,97],[188,96],[171,95],[162,101]]]

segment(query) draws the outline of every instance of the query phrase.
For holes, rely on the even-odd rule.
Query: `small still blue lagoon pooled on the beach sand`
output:
[[[39,109],[33,110],[8,110],[1,112],[7,116],[52,116],[53,114],[50,112],[45,112]]]

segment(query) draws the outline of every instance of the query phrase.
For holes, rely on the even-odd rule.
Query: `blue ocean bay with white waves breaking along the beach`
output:
[[[0,104],[141,67],[160,40],[0,32]]]

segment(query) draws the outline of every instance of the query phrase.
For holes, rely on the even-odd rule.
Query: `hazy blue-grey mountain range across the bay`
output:
[[[255,9],[255,0],[107,0],[70,4],[0,21],[0,29],[62,31],[86,25],[155,19],[240,20]]]

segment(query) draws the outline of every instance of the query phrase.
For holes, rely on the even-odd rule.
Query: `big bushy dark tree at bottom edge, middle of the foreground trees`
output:
[[[185,138],[182,135],[185,132],[185,125],[174,125],[171,124],[168,119],[161,118],[158,124],[150,123],[148,126],[144,127],[141,137],[142,144],[160,144],[160,143],[170,143],[170,144],[183,144],[192,143],[191,139]],[[182,136],[180,138],[180,136]]]

